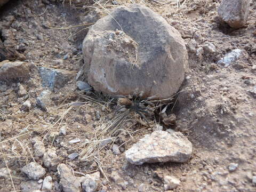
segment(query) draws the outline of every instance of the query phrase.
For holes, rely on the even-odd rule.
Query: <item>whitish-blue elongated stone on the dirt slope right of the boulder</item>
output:
[[[245,50],[235,49],[227,53],[221,60],[217,62],[217,64],[227,67],[239,59],[239,57],[241,57],[243,54],[246,54]]]

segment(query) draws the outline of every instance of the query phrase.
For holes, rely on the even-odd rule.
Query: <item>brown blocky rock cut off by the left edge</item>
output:
[[[5,60],[0,62],[0,81],[24,81],[30,77],[27,63]]]

